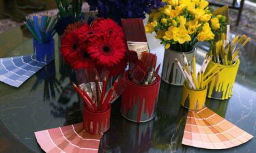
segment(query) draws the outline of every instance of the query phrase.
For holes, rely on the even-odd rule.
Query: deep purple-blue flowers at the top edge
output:
[[[161,0],[85,0],[90,10],[98,10],[98,16],[112,18],[120,23],[121,18],[145,18],[146,13],[164,5]]]

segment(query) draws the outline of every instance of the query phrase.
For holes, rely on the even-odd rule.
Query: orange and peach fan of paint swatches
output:
[[[212,110],[189,110],[182,144],[205,149],[227,149],[253,138]]]

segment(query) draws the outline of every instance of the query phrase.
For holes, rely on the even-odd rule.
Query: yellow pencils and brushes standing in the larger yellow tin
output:
[[[233,65],[240,57],[241,49],[250,39],[251,38],[246,37],[246,35],[242,35],[240,38],[238,35],[232,42],[225,44],[225,33],[222,33],[221,39],[214,42],[214,46],[210,52],[212,61],[221,65]]]

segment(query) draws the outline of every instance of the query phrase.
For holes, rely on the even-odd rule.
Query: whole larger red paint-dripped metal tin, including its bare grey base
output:
[[[122,94],[121,113],[124,118],[133,122],[147,122],[156,116],[156,103],[160,77],[154,84],[143,86],[128,79],[128,72],[124,74],[127,86]]]

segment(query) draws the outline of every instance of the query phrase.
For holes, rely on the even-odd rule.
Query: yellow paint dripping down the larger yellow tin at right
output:
[[[212,81],[209,83],[208,87],[208,97],[215,99],[229,99],[231,97],[233,84],[236,81],[236,74],[238,73],[238,67],[240,65],[240,60],[238,59],[233,65],[219,65],[218,63],[214,63],[210,61],[208,67],[205,70],[207,73],[214,65],[218,65],[216,69],[223,69],[219,72]],[[214,96],[214,92],[223,92],[222,96],[217,97]],[[217,94],[221,95],[221,93]]]

